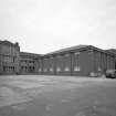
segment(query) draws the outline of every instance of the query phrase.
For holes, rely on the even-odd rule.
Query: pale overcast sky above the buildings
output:
[[[0,0],[0,40],[40,54],[78,44],[116,49],[116,0]]]

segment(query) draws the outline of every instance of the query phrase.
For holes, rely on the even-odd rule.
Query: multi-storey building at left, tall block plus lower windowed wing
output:
[[[40,55],[20,52],[18,43],[0,41],[0,74],[36,74]]]

